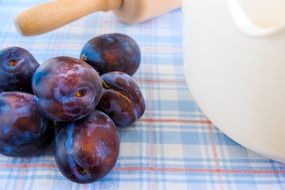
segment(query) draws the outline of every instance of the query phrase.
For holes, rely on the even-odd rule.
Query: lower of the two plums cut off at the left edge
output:
[[[0,94],[0,153],[20,157],[38,154],[53,140],[51,122],[42,117],[33,95]]]

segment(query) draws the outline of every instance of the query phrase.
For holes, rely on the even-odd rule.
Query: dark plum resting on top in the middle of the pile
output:
[[[98,73],[72,57],[55,57],[41,64],[32,84],[40,111],[55,121],[74,121],[90,114],[102,95]]]

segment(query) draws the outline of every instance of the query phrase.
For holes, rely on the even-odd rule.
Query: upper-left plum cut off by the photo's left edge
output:
[[[20,47],[0,51],[0,91],[32,93],[32,76],[39,63],[31,53]]]

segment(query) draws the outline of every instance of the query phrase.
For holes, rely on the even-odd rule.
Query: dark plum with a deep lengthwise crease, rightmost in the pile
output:
[[[105,112],[117,127],[127,127],[145,111],[145,101],[134,79],[123,72],[110,72],[101,76],[103,95],[98,109]]]

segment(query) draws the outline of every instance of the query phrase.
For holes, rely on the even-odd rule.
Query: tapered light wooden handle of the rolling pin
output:
[[[95,11],[119,9],[122,0],[57,0],[22,12],[15,19],[24,36],[38,35],[62,27]]]

